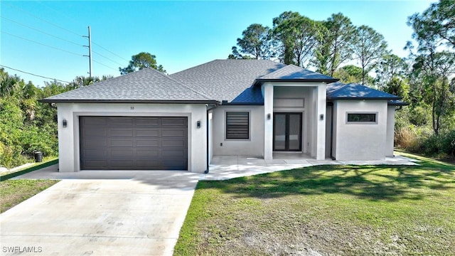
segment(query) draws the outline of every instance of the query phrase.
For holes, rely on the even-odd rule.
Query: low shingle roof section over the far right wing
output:
[[[328,100],[400,100],[398,96],[356,83],[335,86],[336,90],[327,91]]]

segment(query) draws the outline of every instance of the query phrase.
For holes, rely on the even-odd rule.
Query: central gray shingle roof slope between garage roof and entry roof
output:
[[[210,95],[214,100],[231,102],[245,92],[256,78],[285,66],[272,60],[213,60],[170,76]]]

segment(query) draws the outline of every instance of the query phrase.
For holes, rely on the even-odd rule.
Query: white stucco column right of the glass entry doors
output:
[[[317,89],[316,101],[316,160],[326,159],[326,84],[322,83]],[[321,115],[323,118],[321,119]]]

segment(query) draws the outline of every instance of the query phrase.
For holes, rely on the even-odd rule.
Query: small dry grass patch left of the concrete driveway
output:
[[[58,181],[10,179],[0,182],[0,213],[52,186]]]

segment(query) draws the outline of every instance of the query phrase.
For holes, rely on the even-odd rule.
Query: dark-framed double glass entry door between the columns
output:
[[[301,151],[301,113],[273,113],[273,150]]]

